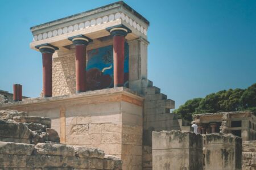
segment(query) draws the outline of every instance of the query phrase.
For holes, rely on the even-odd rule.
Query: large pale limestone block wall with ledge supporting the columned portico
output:
[[[51,118],[61,143],[100,148],[123,169],[142,169],[142,107],[143,97],[124,87],[0,105]]]

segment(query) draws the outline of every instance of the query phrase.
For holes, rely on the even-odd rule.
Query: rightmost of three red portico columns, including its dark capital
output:
[[[131,30],[124,25],[116,25],[106,28],[113,37],[113,59],[114,59],[114,87],[123,86],[124,61],[125,61],[125,36]]]

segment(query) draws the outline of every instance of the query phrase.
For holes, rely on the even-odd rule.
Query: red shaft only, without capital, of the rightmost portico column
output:
[[[114,54],[114,87],[123,86],[124,65],[125,65],[125,37],[115,35],[113,37]]]

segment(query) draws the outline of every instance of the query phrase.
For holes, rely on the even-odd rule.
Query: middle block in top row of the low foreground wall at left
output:
[[[34,154],[75,156],[75,150],[74,147],[70,145],[61,145],[56,143],[38,143],[35,146]]]

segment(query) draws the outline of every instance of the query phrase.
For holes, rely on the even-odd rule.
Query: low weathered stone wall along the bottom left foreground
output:
[[[0,142],[0,160],[0,169],[122,169],[102,150],[56,143]]]

